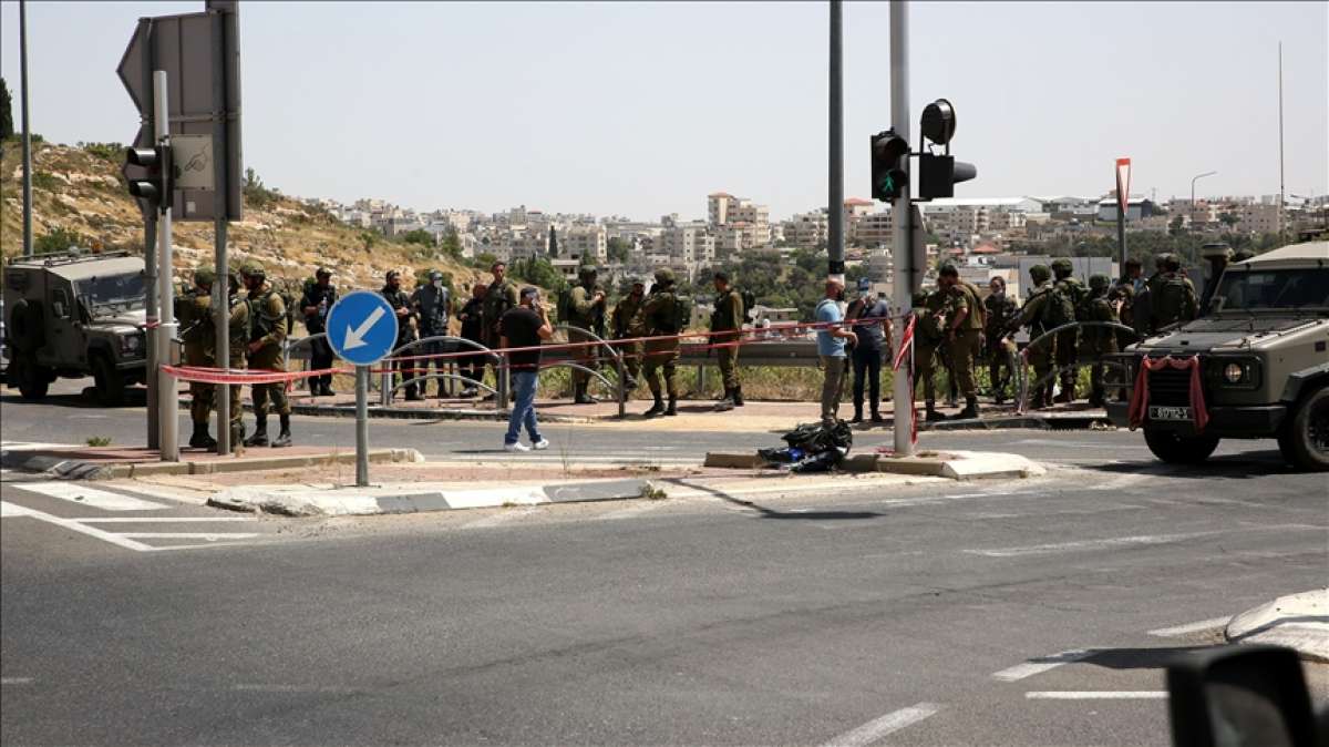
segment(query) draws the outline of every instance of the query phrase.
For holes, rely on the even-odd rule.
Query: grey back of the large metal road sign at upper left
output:
[[[214,24],[221,24],[221,33],[217,33]],[[222,61],[221,70],[217,69],[218,60]],[[226,142],[217,149],[225,154],[225,163],[217,163],[217,167],[225,166],[226,219],[242,219],[239,31],[234,3],[230,7],[219,4],[203,13],[140,19],[117,73],[144,122],[149,124],[153,70],[166,72],[169,129],[173,137],[213,137],[214,125],[218,121],[225,124]],[[218,73],[225,89],[225,109],[221,112],[213,104],[213,86],[218,82]],[[215,186],[205,189],[193,183],[197,182],[179,185],[181,189],[175,190],[171,203],[174,218],[213,221],[217,213],[213,197]]]

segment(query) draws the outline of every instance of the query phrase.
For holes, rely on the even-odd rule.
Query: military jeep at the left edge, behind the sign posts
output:
[[[5,383],[27,399],[60,376],[93,376],[97,399],[122,404],[148,370],[142,258],[128,253],[19,257],[4,268]]]

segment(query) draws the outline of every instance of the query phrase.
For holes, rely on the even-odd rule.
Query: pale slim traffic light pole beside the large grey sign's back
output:
[[[170,109],[166,106],[166,72],[153,72],[153,137],[162,148],[170,150]],[[173,302],[175,288],[171,286],[171,226],[170,207],[171,174],[170,157],[163,158],[162,165],[162,194],[158,209],[157,226],[157,296],[158,296],[158,323],[157,323],[157,416],[158,416],[158,451],[162,461],[179,461],[179,391],[175,377],[161,370],[161,364],[171,363],[170,351],[175,338],[175,306]]]

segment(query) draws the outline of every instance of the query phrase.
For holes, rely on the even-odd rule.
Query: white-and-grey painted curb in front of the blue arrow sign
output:
[[[371,516],[643,497],[663,498],[664,492],[649,480],[593,480],[469,490],[412,485],[320,490],[268,485],[229,488],[209,498],[207,505],[283,516]]]

